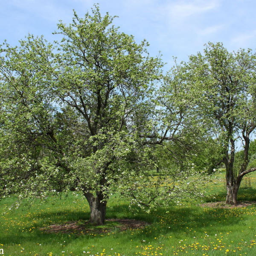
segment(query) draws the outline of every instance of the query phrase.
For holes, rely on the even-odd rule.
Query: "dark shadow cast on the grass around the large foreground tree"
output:
[[[146,221],[151,225],[139,230],[120,230],[115,229],[111,232],[113,239],[119,239],[125,237],[125,239],[133,239],[134,241],[142,241],[154,239],[154,237],[167,236],[172,233],[177,239],[181,239],[184,233],[189,229],[196,230],[197,233],[204,233],[205,230],[209,230],[209,233],[215,233],[216,230],[221,230],[225,226],[236,225],[240,219],[237,218],[239,209],[212,209],[202,207],[170,207],[168,209],[157,209],[146,214],[144,212],[137,212],[134,215],[128,205],[122,204],[122,206],[111,205],[107,209],[107,218],[130,218],[141,221]],[[226,217],[228,215],[228,218]],[[32,217],[27,217],[27,221],[33,221],[31,225],[36,227],[33,233],[29,232],[17,232],[14,234],[2,234],[1,241],[4,244],[22,244],[23,242],[52,244],[53,241],[65,240],[68,244],[74,239],[103,239],[102,236],[91,235],[79,235],[77,233],[46,233],[40,230],[40,227],[45,227],[48,224],[65,223],[68,221],[87,220],[89,218],[89,212],[83,211],[58,211],[58,212],[44,212],[34,214]],[[38,220],[35,224],[35,220]],[[29,227],[27,228],[27,230]],[[26,230],[25,230],[26,231]],[[142,232],[143,231],[143,232]],[[15,232],[13,232],[15,233]],[[92,232],[93,233],[93,232]]]

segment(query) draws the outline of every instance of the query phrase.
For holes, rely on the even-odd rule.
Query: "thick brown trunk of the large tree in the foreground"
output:
[[[102,192],[84,194],[90,206],[90,223],[95,226],[103,225],[106,216],[107,201],[103,201]]]

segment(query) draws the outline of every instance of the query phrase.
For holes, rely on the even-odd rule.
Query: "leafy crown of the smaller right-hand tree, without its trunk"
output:
[[[231,53],[221,43],[209,43],[204,55],[191,55],[185,68],[193,82],[189,89],[198,95],[194,98],[198,110],[212,122],[212,128],[224,128],[222,137],[231,136],[228,128],[236,134],[244,125],[253,125],[254,95],[250,88],[254,84],[255,54],[250,49]]]

